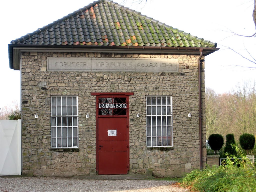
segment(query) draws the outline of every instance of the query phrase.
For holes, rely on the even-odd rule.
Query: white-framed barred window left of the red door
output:
[[[51,96],[51,148],[78,148],[77,96]]]

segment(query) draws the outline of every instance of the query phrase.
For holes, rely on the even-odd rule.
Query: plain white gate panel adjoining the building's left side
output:
[[[21,175],[21,120],[0,120],[0,175]]]

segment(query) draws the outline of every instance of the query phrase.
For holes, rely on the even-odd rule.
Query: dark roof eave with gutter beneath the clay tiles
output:
[[[150,46],[91,46],[91,45],[22,45],[9,44],[9,66],[11,69],[19,70],[21,52],[113,52],[113,53],[137,53],[137,54],[202,54],[207,56],[219,48],[202,47],[150,47]]]

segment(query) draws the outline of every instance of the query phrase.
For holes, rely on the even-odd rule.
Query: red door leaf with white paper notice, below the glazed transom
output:
[[[127,174],[127,118],[98,118],[98,174]]]

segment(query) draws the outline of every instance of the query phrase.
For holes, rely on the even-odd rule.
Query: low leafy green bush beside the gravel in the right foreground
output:
[[[236,151],[238,151],[238,148]],[[250,192],[256,191],[256,170],[247,157],[242,159],[226,154],[227,160],[219,167],[193,170],[183,179],[182,186],[192,191],[204,192]],[[231,158],[234,158],[232,160]],[[237,166],[237,165],[240,165]]]

